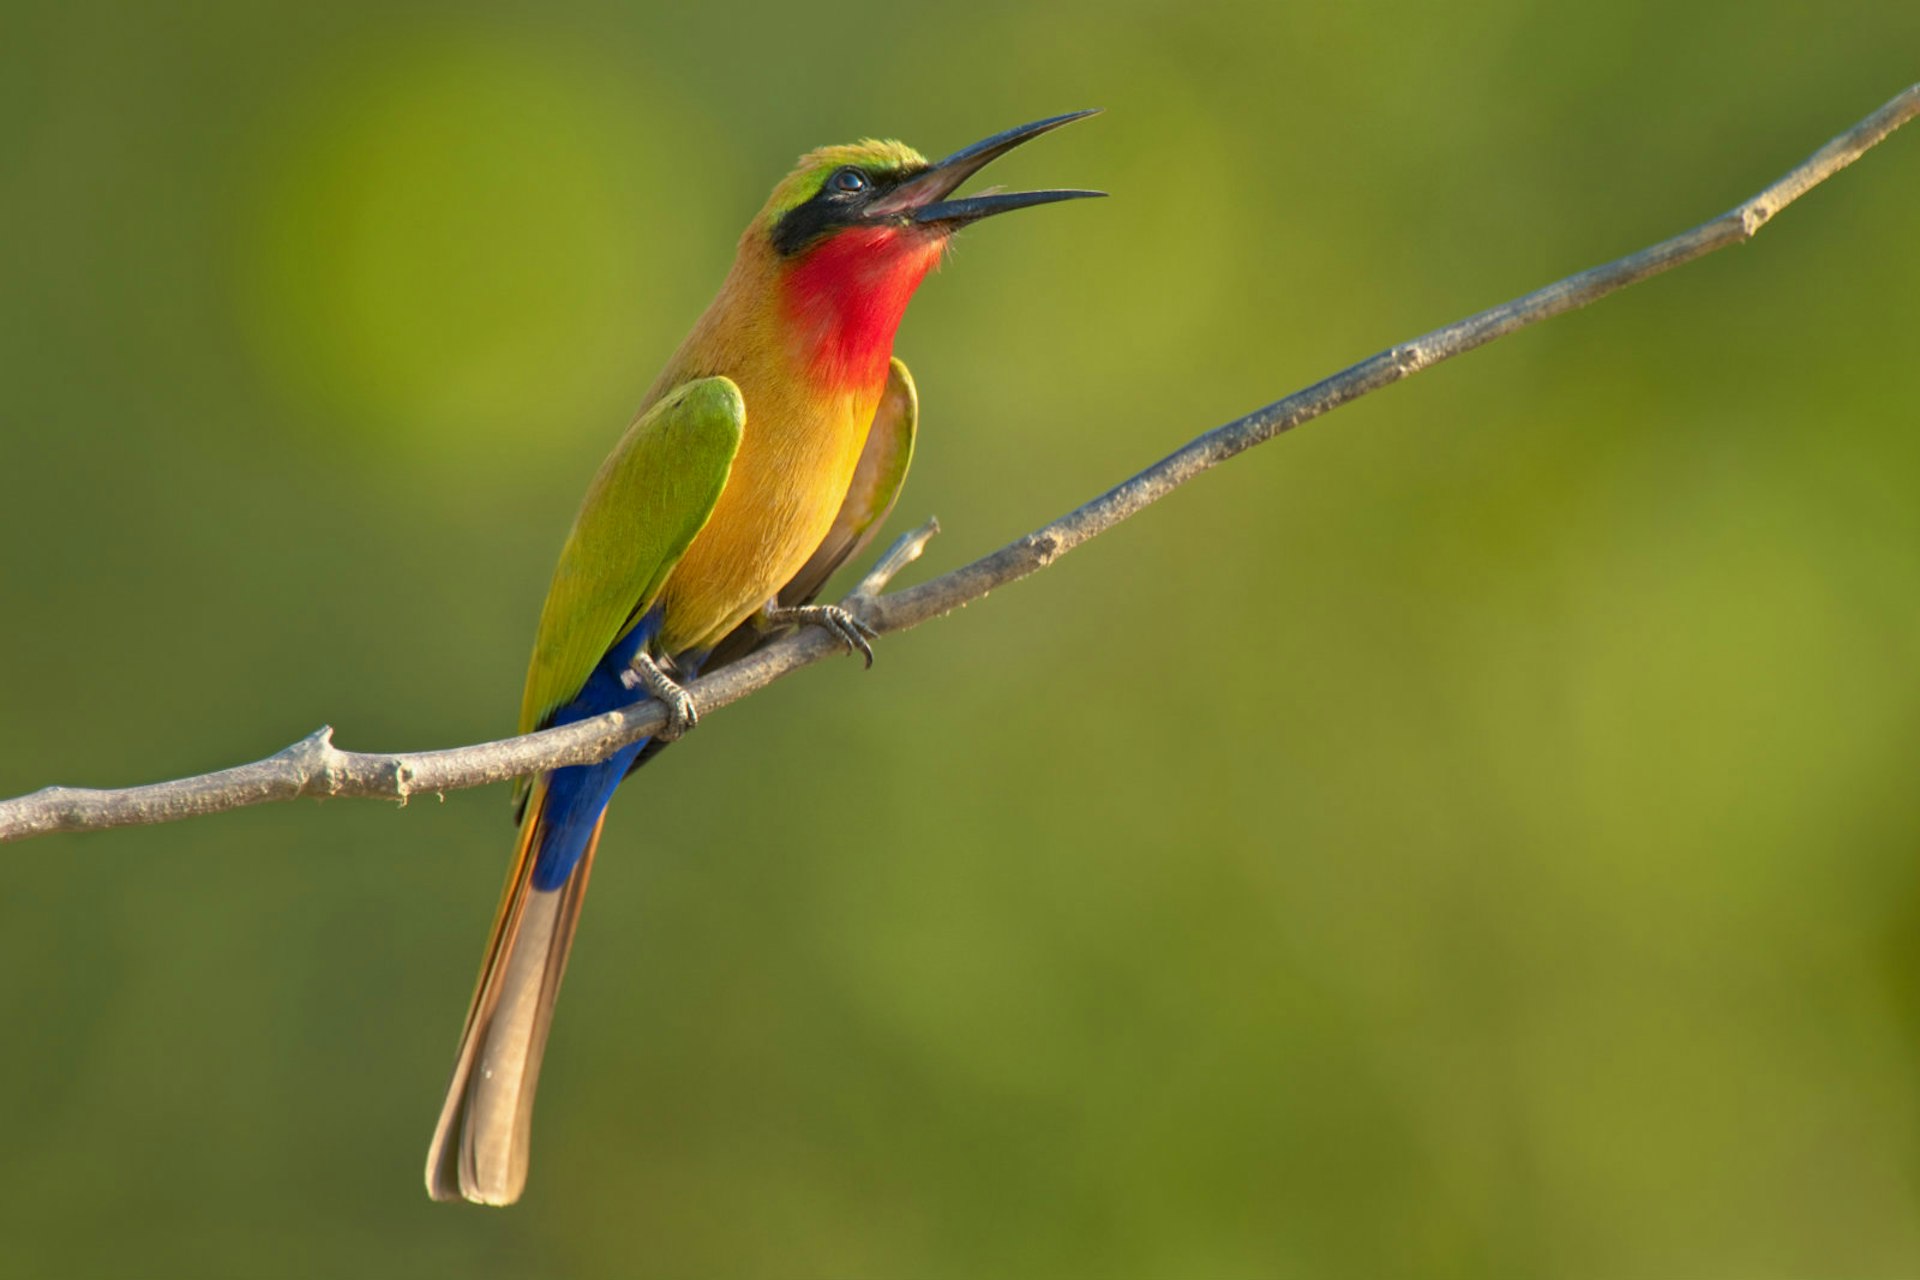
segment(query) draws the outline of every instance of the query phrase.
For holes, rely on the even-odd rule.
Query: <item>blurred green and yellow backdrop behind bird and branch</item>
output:
[[[927,570],[1743,200],[1920,8],[13,4],[0,793],[511,729],[801,150],[1098,205],[899,351]],[[1920,1274],[1920,132],[714,716],[534,1180],[420,1161],[505,789],[0,856],[8,1276]],[[922,574],[922,570],[914,570]]]

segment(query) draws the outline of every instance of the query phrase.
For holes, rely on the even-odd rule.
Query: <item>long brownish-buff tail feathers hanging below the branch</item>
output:
[[[453,1080],[426,1153],[426,1192],[434,1199],[465,1196],[474,1203],[511,1205],[526,1186],[540,1059],[605,823],[603,810],[578,865],[559,889],[534,889],[540,846],[553,839],[545,821],[547,796],[541,781],[528,802],[507,889],[493,913]]]

